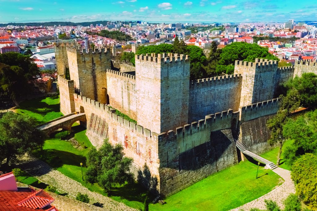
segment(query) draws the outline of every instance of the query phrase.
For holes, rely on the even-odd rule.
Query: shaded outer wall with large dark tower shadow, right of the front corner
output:
[[[239,112],[211,114],[204,120],[159,135],[160,193],[171,195],[238,163],[232,130]],[[232,124],[234,122],[234,124]]]

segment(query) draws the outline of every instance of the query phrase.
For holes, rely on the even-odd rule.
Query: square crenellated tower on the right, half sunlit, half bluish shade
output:
[[[277,61],[256,59],[256,62],[236,61],[234,74],[242,75],[240,106],[273,99]]]

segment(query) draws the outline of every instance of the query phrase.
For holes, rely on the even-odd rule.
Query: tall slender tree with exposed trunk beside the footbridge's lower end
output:
[[[300,104],[296,90],[289,92],[286,96],[281,95],[280,98],[279,111],[275,117],[270,118],[267,122],[267,127],[271,131],[271,137],[268,139],[268,143],[271,146],[277,144],[279,148],[276,165],[280,165],[282,147],[286,140],[283,136],[283,126],[288,121],[290,113],[295,111]]]

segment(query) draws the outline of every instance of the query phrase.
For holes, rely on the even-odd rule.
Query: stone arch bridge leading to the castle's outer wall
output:
[[[77,121],[86,122],[86,114],[77,112],[71,113],[38,125],[37,128],[49,135],[61,128],[70,131],[72,125]]]

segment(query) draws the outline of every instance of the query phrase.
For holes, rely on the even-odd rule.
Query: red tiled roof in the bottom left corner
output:
[[[17,191],[0,191],[0,210],[37,211],[52,210],[44,208],[54,199],[43,189],[35,191],[32,188],[18,188]],[[57,210],[55,208],[55,210]]]

